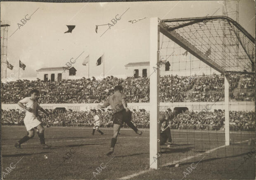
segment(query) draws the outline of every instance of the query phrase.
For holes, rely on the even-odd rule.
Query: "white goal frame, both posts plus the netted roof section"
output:
[[[226,26],[223,24],[225,23]],[[200,24],[201,23],[201,24]],[[201,26],[204,26],[201,28]],[[228,25],[228,26],[227,26]],[[188,28],[188,29],[185,29]],[[199,29],[198,29],[199,28]],[[208,28],[208,29],[207,29]],[[237,22],[225,16],[160,20],[150,18],[150,168],[159,168],[159,63],[160,33],[209,68],[224,76],[225,145],[230,145],[230,79],[232,74],[253,74],[255,39]],[[201,33],[201,34],[200,34]],[[228,34],[229,33],[229,34]],[[196,37],[198,39],[192,39]],[[200,37],[200,39],[199,39]],[[239,41],[239,57],[232,39]],[[197,42],[198,40],[198,42]],[[169,44],[169,43],[168,43]],[[202,46],[200,46],[202,44]],[[236,47],[237,48],[237,47]],[[168,59],[170,53],[166,52]],[[181,55],[181,54],[180,54]],[[242,60],[240,59],[242,57]],[[190,59],[191,61],[191,59]],[[236,62],[235,62],[236,61]],[[191,64],[190,64],[191,68]]]

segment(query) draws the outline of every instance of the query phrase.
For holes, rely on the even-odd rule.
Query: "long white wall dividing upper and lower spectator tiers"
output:
[[[149,103],[128,103],[128,107],[133,110],[145,109],[149,111]],[[87,104],[40,104],[45,109],[55,109],[63,107],[66,109],[72,109],[73,111],[89,111],[90,109],[97,109],[97,103]],[[162,102],[160,103],[160,111],[166,111],[170,108],[172,111],[175,107],[187,107],[190,111],[202,111],[203,109],[209,109],[208,111],[214,111],[224,109],[224,102]],[[17,104],[2,104],[3,110],[20,108]],[[108,108],[111,108],[110,106]],[[106,108],[107,109],[107,108]],[[230,111],[255,111],[254,102],[230,102]]]

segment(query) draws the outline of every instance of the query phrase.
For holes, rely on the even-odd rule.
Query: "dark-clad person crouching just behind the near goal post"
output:
[[[164,119],[164,115],[160,115],[159,119],[161,122],[160,145],[164,145],[167,142],[167,147],[170,148],[172,143],[171,129],[168,126],[167,120]]]

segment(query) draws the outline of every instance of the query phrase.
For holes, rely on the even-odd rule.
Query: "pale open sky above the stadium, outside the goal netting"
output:
[[[7,77],[18,72],[19,60],[26,65],[25,71],[20,69],[22,77],[36,77],[37,69],[66,66],[79,55],[73,64],[76,76],[88,75],[88,66],[82,65],[88,55],[90,76],[99,76],[103,65],[96,66],[96,61],[103,54],[105,74],[121,75],[129,62],[149,61],[149,18],[202,17],[214,12],[215,16],[223,15],[223,1],[1,2],[1,21],[10,21],[7,60],[14,65],[12,71],[7,69]],[[18,23],[26,14],[31,18],[19,28]],[[95,32],[96,25],[113,24],[111,20],[116,15],[121,19],[114,26],[109,30],[108,25],[99,26]],[[147,18],[137,23],[128,22],[144,17]],[[253,0],[239,1],[239,24],[255,37]],[[66,25],[76,27],[72,33],[64,33]]]

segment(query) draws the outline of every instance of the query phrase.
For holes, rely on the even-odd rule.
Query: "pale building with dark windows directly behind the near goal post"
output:
[[[157,68],[157,66],[155,65]],[[130,62],[127,65],[125,65],[126,69],[126,77],[133,76],[135,78],[137,77],[148,77],[150,74],[149,69],[149,61],[147,62]],[[167,62],[161,62],[161,67],[159,67],[159,70],[161,72],[169,72],[170,70],[170,63]],[[153,69],[154,71],[154,69]]]

